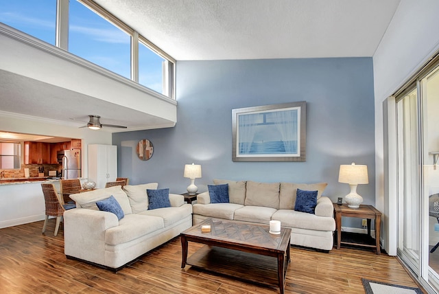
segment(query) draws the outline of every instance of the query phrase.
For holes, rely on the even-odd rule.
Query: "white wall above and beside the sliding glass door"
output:
[[[439,49],[439,1],[401,1],[373,56],[375,84],[375,205],[381,212],[385,203],[383,101],[399,89]],[[395,197],[392,194],[389,197]],[[396,207],[389,207],[396,210]],[[385,216],[384,216],[385,219]],[[385,250],[396,255],[396,218],[383,223]]]

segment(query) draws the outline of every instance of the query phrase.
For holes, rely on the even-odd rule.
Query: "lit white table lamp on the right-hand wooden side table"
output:
[[[348,207],[358,208],[363,202],[363,197],[357,194],[357,185],[369,183],[368,166],[352,163],[351,165],[340,166],[338,174],[339,183],[348,183],[351,186],[351,192],[344,196],[344,201]]]

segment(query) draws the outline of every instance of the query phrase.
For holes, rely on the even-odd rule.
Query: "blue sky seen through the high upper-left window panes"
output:
[[[0,0],[0,22],[55,45],[56,0]],[[128,34],[78,1],[69,6],[69,52],[131,78]],[[139,43],[139,84],[162,93],[164,58]]]

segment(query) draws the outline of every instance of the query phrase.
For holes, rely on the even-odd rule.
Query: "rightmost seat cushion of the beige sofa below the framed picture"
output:
[[[280,220],[283,227],[296,227],[316,231],[334,231],[334,218],[305,214],[294,210],[278,210],[272,215],[273,220]]]

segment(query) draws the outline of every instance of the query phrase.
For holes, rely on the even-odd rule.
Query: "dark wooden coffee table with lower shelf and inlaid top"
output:
[[[202,225],[211,225],[211,231],[202,232]],[[283,293],[290,260],[291,229],[282,227],[281,234],[274,235],[269,233],[269,227],[237,220],[207,218],[180,234],[181,267],[185,268],[189,264],[239,280],[278,286]],[[208,246],[202,247],[188,259],[188,241]]]

